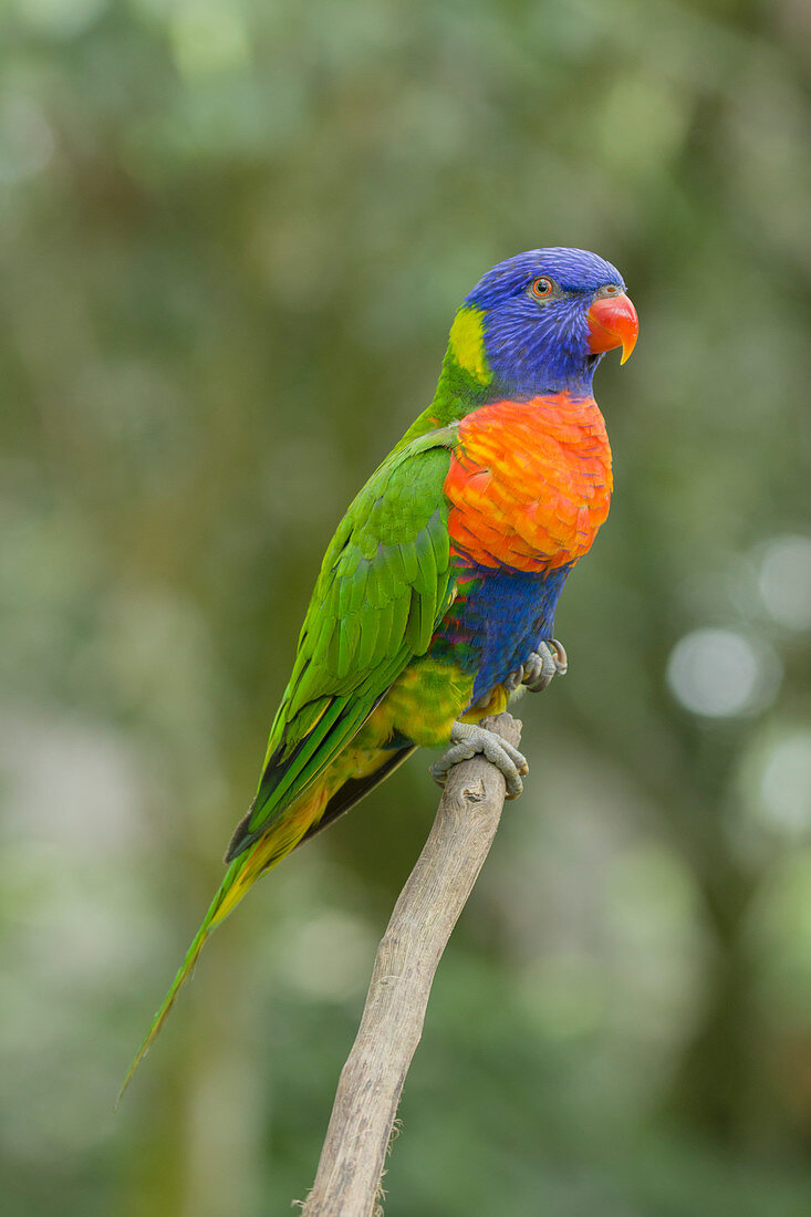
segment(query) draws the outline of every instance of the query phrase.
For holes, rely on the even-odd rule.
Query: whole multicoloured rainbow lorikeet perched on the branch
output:
[[[326,551],[256,798],[128,1081],[212,930],[416,747],[449,745],[440,783],[485,752],[520,793],[524,757],[477,724],[565,672],[555,606],[611,492],[592,377],[637,331],[622,276],[583,249],[508,258],[465,298],[434,400]]]

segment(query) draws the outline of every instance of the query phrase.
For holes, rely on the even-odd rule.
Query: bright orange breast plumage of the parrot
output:
[[[593,398],[494,402],[459,424],[444,482],[457,551],[481,566],[575,562],[608,515],[611,449]]]

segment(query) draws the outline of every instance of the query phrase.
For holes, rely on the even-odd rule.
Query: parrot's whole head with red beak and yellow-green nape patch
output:
[[[639,323],[619,270],[586,249],[531,249],[488,270],[451,330],[451,350],[480,383],[536,396],[589,393],[606,350],[633,350]]]

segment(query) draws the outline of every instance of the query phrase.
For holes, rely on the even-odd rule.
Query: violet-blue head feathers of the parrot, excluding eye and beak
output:
[[[533,280],[546,276],[560,295],[537,301]],[[500,262],[479,280],[465,304],[483,313],[485,353],[494,386],[518,397],[592,391],[602,355],[588,348],[587,313],[609,284],[625,291],[616,267],[587,249],[530,249]]]

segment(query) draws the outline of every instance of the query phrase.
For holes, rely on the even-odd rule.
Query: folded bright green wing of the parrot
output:
[[[453,598],[443,493],[455,426],[395,449],[341,521],[270,729],[253,804],[230,862],[284,817],[363,725]]]

